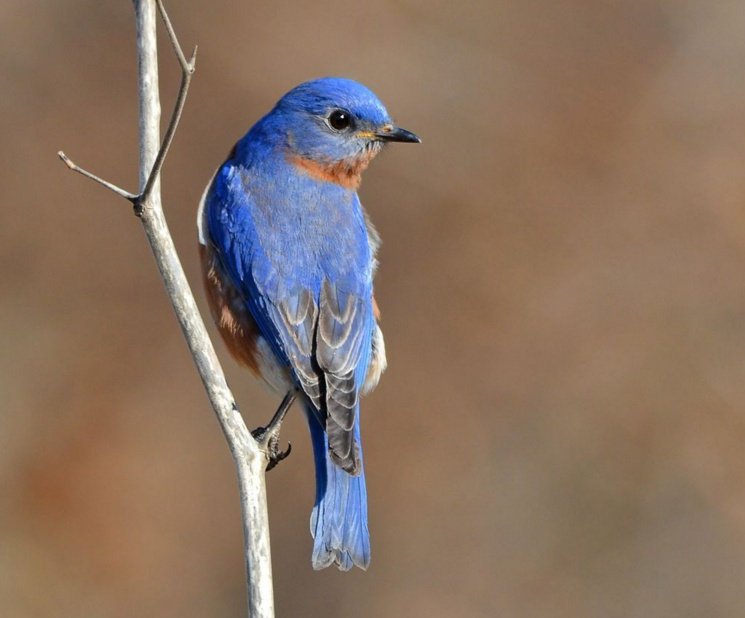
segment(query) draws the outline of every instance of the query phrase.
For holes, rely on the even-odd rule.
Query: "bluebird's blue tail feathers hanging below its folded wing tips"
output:
[[[310,404],[306,403],[306,406]],[[314,412],[307,411],[316,464],[316,503],[310,516],[313,535],[313,568],[336,564],[342,571],[370,564],[370,535],[367,530],[365,471],[351,476],[329,459],[326,432]],[[359,415],[359,409],[356,411]],[[360,443],[359,416],[354,438]],[[360,449],[360,462],[362,452]]]

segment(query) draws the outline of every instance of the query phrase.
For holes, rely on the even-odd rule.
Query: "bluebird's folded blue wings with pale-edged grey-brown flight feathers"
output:
[[[241,168],[224,165],[206,198],[211,240],[261,334],[313,403],[336,463],[354,474],[360,463],[352,429],[374,328],[364,223],[361,255],[337,258],[331,247],[326,255],[316,255],[315,269],[307,267],[303,255],[297,255],[298,267],[292,268],[286,253],[296,251],[302,239],[285,239],[284,252],[273,250],[277,230],[257,224],[253,200]],[[338,241],[347,239],[340,235]],[[364,267],[355,267],[355,261],[364,260]]]

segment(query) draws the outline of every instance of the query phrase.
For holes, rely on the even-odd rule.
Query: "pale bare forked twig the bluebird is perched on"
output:
[[[156,2],[182,70],[181,87],[176,105],[160,145]],[[161,206],[160,171],[186,101],[189,82],[194,73],[196,48],[190,60],[187,61],[178,44],[162,0],[133,0],[133,3],[137,33],[140,108],[140,192],[131,194],[120,189],[78,167],[64,153],[58,154],[70,169],[98,182],[135,205],[135,212],[142,221],[163,284],[235,463],[243,514],[248,615],[250,618],[273,618],[274,593],[264,477],[266,454],[246,428],[228,388],[225,375],[176,253]]]

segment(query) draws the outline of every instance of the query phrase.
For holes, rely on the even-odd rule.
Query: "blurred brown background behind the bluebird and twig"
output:
[[[203,309],[197,201],[286,90],[358,79],[424,139],[362,187],[390,360],[372,567],[311,570],[294,413],[278,616],[745,615],[745,4],[170,12],[200,54],[164,199]],[[0,613],[245,615],[232,462],[140,225],[55,156],[135,188],[131,4],[4,0],[0,24]],[[264,422],[277,399],[218,351]]]

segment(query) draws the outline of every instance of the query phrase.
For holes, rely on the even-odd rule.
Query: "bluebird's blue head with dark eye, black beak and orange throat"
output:
[[[292,164],[348,187],[359,185],[362,171],[386,143],[421,141],[395,126],[365,86],[336,77],[293,88],[265,120],[281,136]]]

